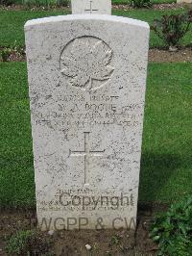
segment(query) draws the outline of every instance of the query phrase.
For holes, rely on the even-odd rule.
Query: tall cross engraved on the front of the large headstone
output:
[[[84,185],[89,185],[86,183],[87,180],[87,171],[89,170],[89,158],[90,157],[102,157],[105,150],[102,151],[93,151],[90,150],[89,144],[89,132],[84,132],[84,150],[83,151],[72,151],[69,150],[69,156],[71,157],[84,157]]]

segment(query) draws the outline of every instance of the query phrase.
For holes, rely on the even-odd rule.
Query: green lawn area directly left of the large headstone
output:
[[[26,64],[0,63],[0,206],[35,202]]]

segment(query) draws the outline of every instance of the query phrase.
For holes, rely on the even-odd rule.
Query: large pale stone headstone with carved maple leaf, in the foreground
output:
[[[148,24],[64,15],[25,34],[40,228],[134,228]]]

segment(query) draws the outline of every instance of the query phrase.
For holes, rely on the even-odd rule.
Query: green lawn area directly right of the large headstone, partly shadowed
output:
[[[150,64],[140,200],[192,193],[192,64]]]

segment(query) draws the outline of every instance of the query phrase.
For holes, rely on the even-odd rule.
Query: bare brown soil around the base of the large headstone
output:
[[[157,255],[157,245],[149,239],[149,226],[154,221],[154,213],[165,209],[167,209],[167,206],[161,206],[160,208],[155,206],[153,209],[151,206],[148,207],[146,205],[140,207],[135,233],[130,230],[63,230],[56,231],[52,235],[48,234],[48,232],[36,231],[36,236],[40,236],[42,241],[49,241],[49,255],[153,256]],[[1,210],[0,256],[6,255],[4,249],[6,241],[19,230],[37,230],[36,211]],[[86,249],[86,244],[91,246],[91,250]],[[41,249],[40,247],[39,245],[39,250]]]

